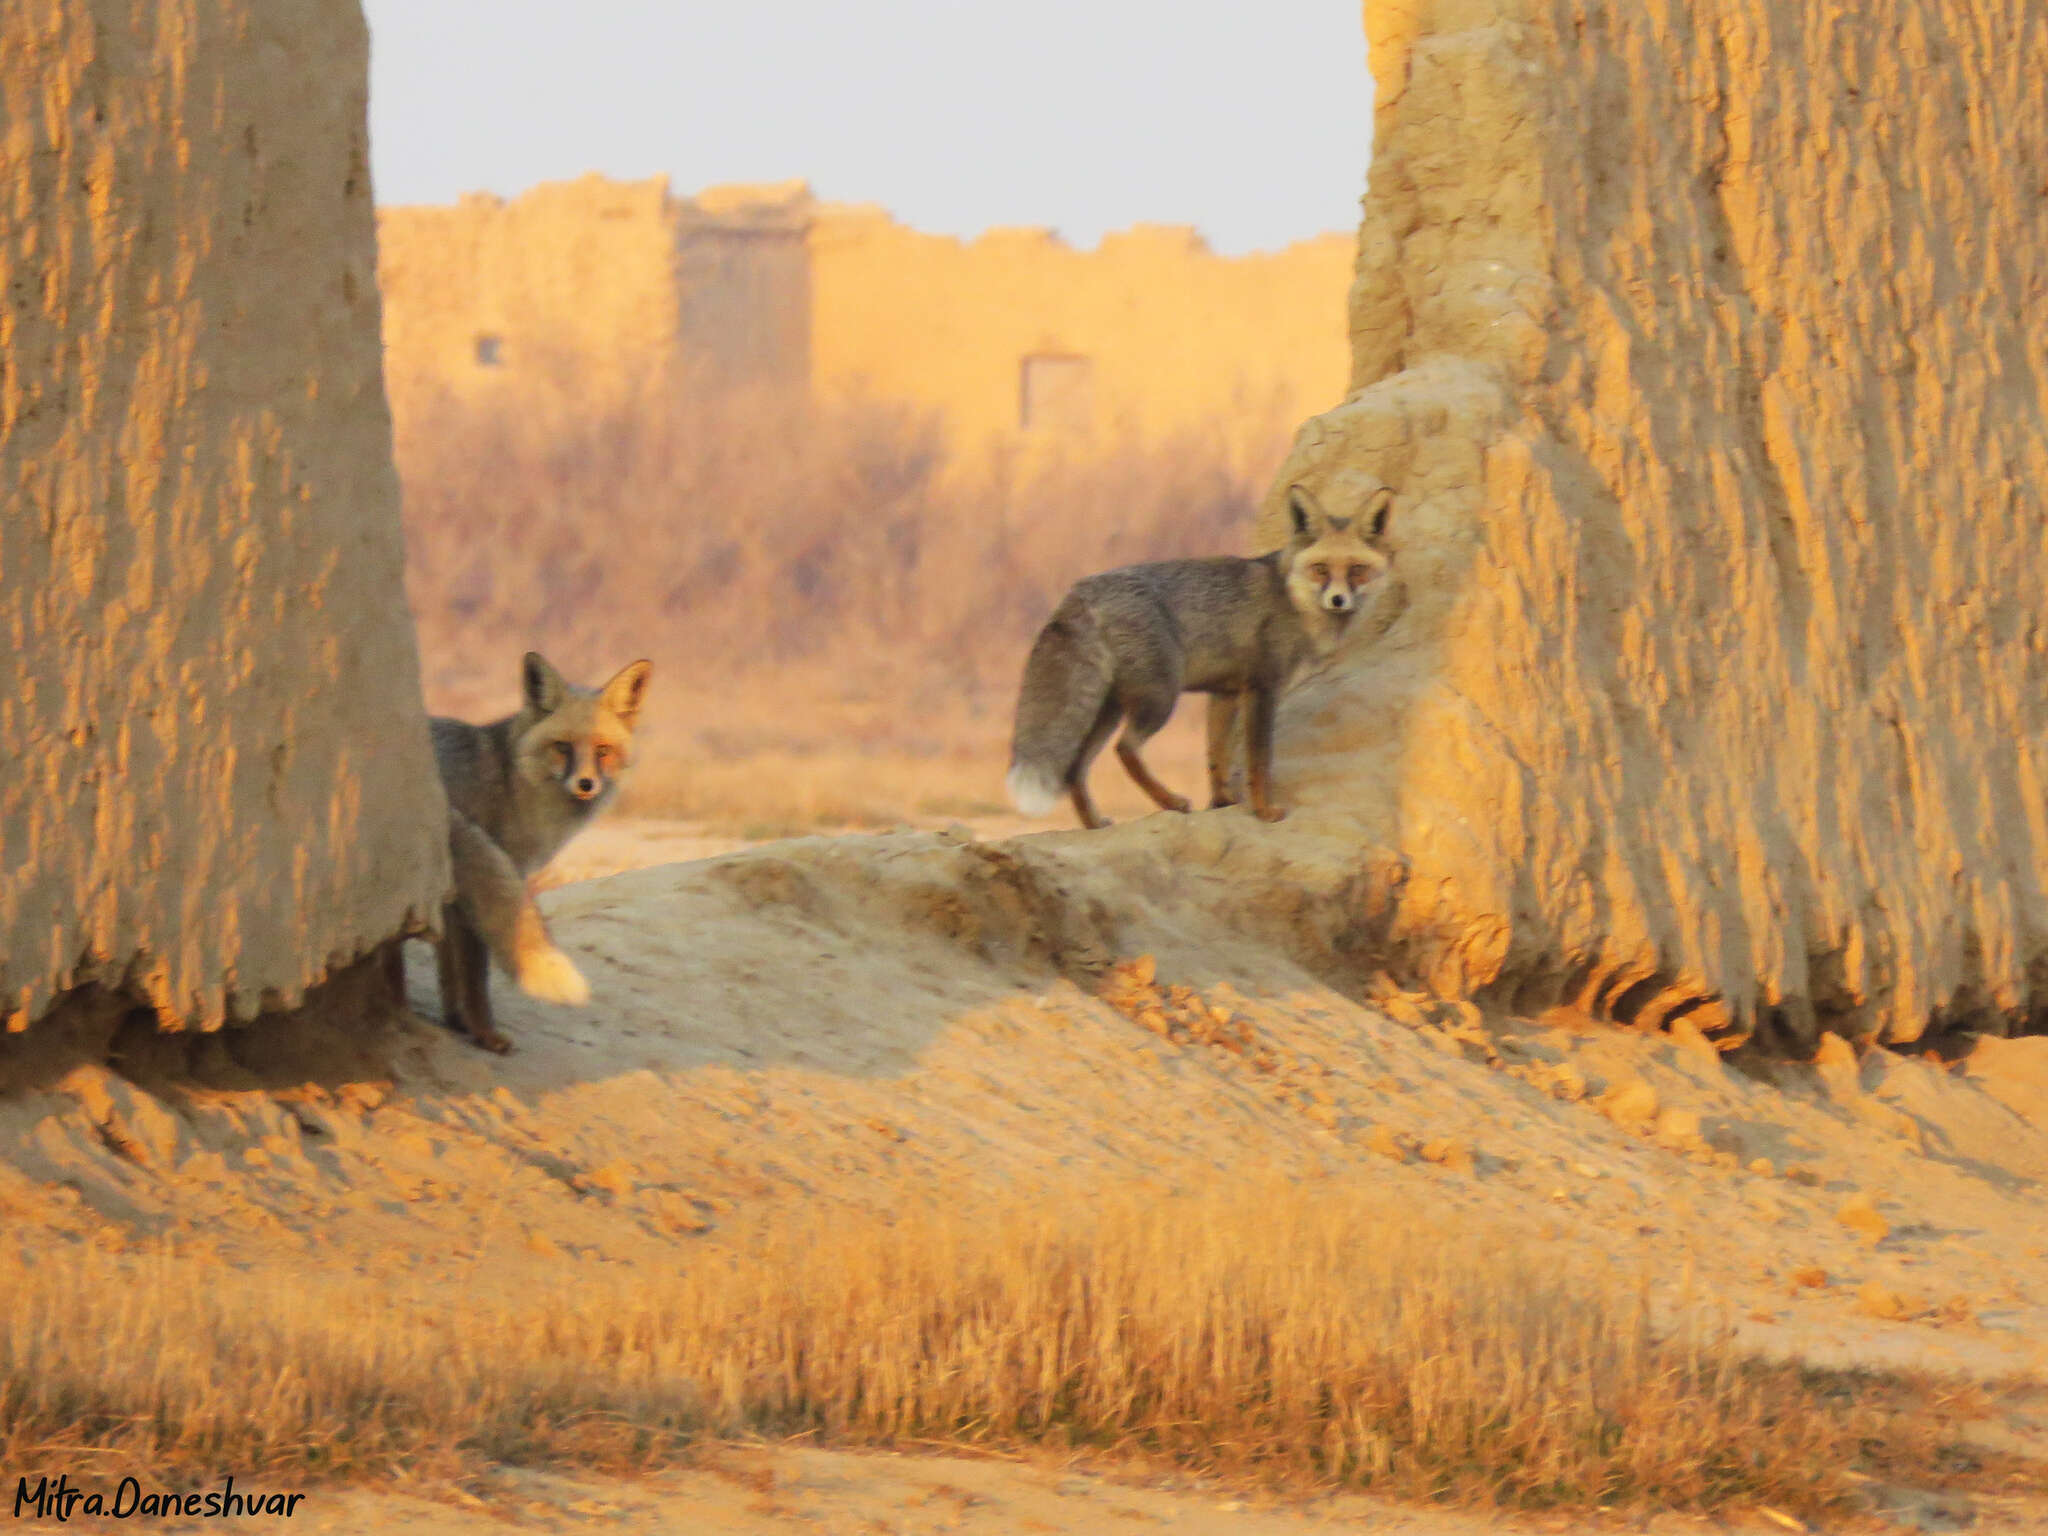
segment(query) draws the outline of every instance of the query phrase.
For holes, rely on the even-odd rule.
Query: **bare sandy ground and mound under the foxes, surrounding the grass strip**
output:
[[[2048,1038],[1985,1040],[1958,1063],[1841,1047],[1737,1069],[1683,1026],[1645,1038],[1403,991],[1376,973],[1370,858],[1348,823],[1309,813],[659,862],[705,842],[618,823],[573,850],[563,872],[616,870],[543,899],[594,1001],[500,987],[506,1059],[432,1022],[414,946],[420,1016],[348,1040],[272,1026],[176,1067],[53,1055],[25,1075],[16,1061],[31,1087],[0,1098],[0,1210],[98,1241],[172,1233],[236,1264],[530,1290],[686,1264],[793,1214],[1260,1167],[1368,1180],[1479,1233],[1608,1253],[1661,1305],[1712,1309],[1765,1352],[2048,1374]],[[1253,1049],[1161,1038],[1098,997],[1104,967],[1139,954]],[[1985,1501],[1950,1516],[2048,1528]],[[426,1501],[332,1493],[293,1528],[1481,1524],[756,1448],[639,1483],[506,1473]]]

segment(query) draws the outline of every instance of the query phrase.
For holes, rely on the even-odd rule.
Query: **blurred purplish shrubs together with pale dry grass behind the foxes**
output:
[[[397,428],[430,707],[510,709],[535,645],[571,674],[651,655],[631,805],[760,834],[1001,809],[1012,690],[1061,592],[1245,549],[1286,446],[1253,410],[963,469],[909,410],[741,395],[551,420],[440,397]],[[1198,723],[1176,727],[1161,762],[1194,782]]]

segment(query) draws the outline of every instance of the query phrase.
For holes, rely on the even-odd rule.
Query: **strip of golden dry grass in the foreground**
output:
[[[817,1432],[1812,1513],[1858,1464],[1937,1460],[1923,1407],[1706,1331],[1659,1339],[1626,1288],[1333,1186],[821,1225],[520,1305],[162,1255],[8,1268],[0,1448],[23,1466],[78,1448],[195,1479],[631,1466],[694,1436]]]

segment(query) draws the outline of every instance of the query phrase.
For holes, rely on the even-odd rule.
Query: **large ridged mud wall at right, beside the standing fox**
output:
[[[1286,715],[1446,985],[2015,1022],[2048,956],[2048,4],[1368,0],[1407,608]]]

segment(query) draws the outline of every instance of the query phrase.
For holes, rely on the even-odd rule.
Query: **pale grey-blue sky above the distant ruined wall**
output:
[[[666,172],[903,223],[1358,227],[1358,0],[365,0],[379,203]]]

